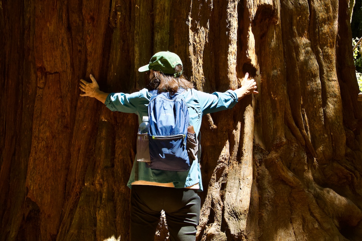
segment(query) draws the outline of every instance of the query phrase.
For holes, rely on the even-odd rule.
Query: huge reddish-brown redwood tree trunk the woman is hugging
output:
[[[128,240],[137,117],[80,97],[144,87],[153,53],[199,90],[197,240],[359,240],[362,104],[347,0],[0,0],[0,241]],[[165,240],[161,219],[156,240]]]

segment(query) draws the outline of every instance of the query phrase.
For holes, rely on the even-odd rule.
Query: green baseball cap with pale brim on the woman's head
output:
[[[155,53],[150,60],[150,64],[146,64],[138,69],[139,72],[145,72],[153,69],[160,71],[164,74],[173,74],[174,77],[179,77],[181,72],[175,72],[176,65],[181,64],[182,61],[176,53],[170,51],[161,51]]]

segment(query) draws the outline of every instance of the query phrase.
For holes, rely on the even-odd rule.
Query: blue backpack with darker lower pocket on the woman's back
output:
[[[148,140],[151,163],[148,167],[168,171],[186,171],[190,160],[186,150],[189,111],[183,89],[174,95],[153,95],[148,104]]]

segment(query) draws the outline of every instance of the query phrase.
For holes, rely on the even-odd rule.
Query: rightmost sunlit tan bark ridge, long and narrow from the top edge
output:
[[[342,123],[342,105],[335,59],[338,1],[331,1],[330,3],[311,1],[311,6],[311,27],[315,29],[319,25],[329,26],[318,32],[313,29],[310,31],[313,50],[319,65],[325,135],[328,138],[327,142],[331,143],[329,148],[333,150],[325,151],[323,155],[326,160],[340,159],[345,154],[345,133],[342,126],[338,124]],[[321,11],[317,9],[323,9],[322,12],[327,14],[321,14]]]

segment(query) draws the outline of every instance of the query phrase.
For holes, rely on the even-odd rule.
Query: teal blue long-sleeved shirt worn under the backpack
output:
[[[147,89],[142,89],[132,94],[111,93],[107,96],[105,105],[111,111],[137,114],[138,122],[140,124],[142,122],[142,116],[148,116],[147,107],[153,94],[155,93],[148,91]],[[195,89],[188,89],[182,94],[188,107],[190,125],[194,126],[197,136],[200,133],[203,115],[230,109],[237,103],[236,93],[232,90],[209,94]],[[152,169],[147,167],[144,162],[135,161],[127,186],[132,188],[132,182],[141,180],[158,183],[173,182],[175,188],[185,188],[198,183],[200,191],[203,190],[198,160],[192,162],[189,171],[163,171]]]

